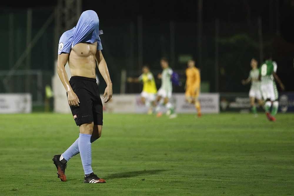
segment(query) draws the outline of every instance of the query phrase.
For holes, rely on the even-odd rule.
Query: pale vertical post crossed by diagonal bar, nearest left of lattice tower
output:
[[[29,48],[29,44],[32,39],[32,9],[29,8],[27,11],[26,17],[26,48]],[[31,69],[31,48],[29,48],[28,53],[26,55],[26,69]],[[28,75],[26,78],[26,92],[30,92],[30,76]]]

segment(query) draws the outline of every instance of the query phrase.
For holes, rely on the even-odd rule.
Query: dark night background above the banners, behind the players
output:
[[[1,36],[8,36],[7,15],[14,13],[19,28],[14,32],[22,36],[26,32],[26,9],[33,8],[33,32],[36,34],[42,23],[56,6],[57,1],[27,1],[25,3],[1,2]],[[216,91],[215,56],[216,39],[215,24],[219,19],[219,92],[247,92],[249,86],[242,86],[241,79],[248,77],[251,58],[260,63],[258,17],[262,20],[263,54],[271,52],[278,64],[278,75],[285,84],[286,91],[294,91],[292,85],[294,57],[294,0],[225,0],[203,1],[201,61],[198,60],[198,1],[86,1],[82,10],[93,9],[100,19],[100,29],[103,54],[110,69],[113,84],[120,82],[121,69],[126,69],[128,75],[140,73],[138,67],[137,17],[143,21],[143,63],[149,64],[154,74],[160,71],[159,59],[170,56],[170,21],[175,26],[175,62],[171,65],[179,73],[186,64],[179,59],[182,55],[191,55],[196,60],[196,66],[201,68],[203,83],[209,85],[208,91]],[[24,18],[24,19],[23,19]],[[133,37],[130,26],[134,27]],[[48,75],[54,72],[58,43],[53,40],[54,24],[40,39],[33,49],[31,69],[41,69]],[[25,37],[25,35],[24,35]],[[19,38],[18,41],[23,39]],[[5,40],[4,40],[4,44]],[[130,48],[133,50],[131,59]],[[16,56],[25,49],[24,43],[16,44]],[[2,49],[3,50],[3,49]],[[1,54],[1,70],[9,69],[8,53]],[[4,59],[4,60],[3,60]],[[41,62],[41,63],[40,63]],[[24,69],[20,67],[19,69]],[[182,78],[185,79],[184,77]],[[103,84],[101,84],[103,85]],[[119,92],[119,86],[114,92]],[[1,89],[1,87],[0,87]],[[140,86],[127,86],[127,92],[139,92]],[[183,92],[182,88],[176,88]]]

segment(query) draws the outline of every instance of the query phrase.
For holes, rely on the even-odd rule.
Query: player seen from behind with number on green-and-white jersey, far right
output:
[[[278,89],[275,80],[279,83],[282,90],[285,89],[280,78],[276,74],[277,63],[272,61],[271,58],[266,60],[259,68],[259,75],[261,79],[261,93],[265,100],[265,113],[270,121],[275,121],[275,115],[278,112]],[[270,112],[270,107],[272,111]]]

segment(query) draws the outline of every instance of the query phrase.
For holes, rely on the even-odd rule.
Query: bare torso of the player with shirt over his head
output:
[[[69,54],[69,68],[71,76],[83,76],[96,78],[95,74],[95,54],[97,51],[97,42],[93,44],[78,43]]]

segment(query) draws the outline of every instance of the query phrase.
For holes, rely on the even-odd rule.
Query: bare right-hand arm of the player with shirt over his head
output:
[[[96,57],[99,72],[102,75],[102,77],[105,80],[106,85],[107,85],[107,87],[105,88],[104,94],[103,94],[103,99],[107,96],[106,100],[104,101],[106,103],[112,97],[112,82],[111,82],[111,79],[110,79],[110,76],[109,76],[106,61],[105,61],[105,59],[103,57],[103,54],[102,54],[101,50],[97,50],[97,52],[95,54],[95,57]]]

